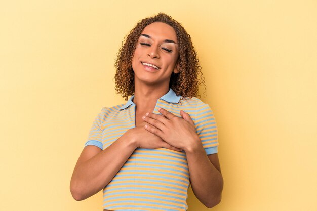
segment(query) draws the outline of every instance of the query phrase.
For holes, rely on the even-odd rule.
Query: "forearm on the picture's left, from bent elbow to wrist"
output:
[[[129,159],[135,145],[122,136],[92,158],[75,167],[70,189],[76,200],[84,200],[103,189]]]

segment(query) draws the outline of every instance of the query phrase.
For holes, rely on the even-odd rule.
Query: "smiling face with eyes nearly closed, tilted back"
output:
[[[137,41],[132,58],[135,83],[169,86],[176,68],[178,44],[175,30],[166,23],[146,26]]]

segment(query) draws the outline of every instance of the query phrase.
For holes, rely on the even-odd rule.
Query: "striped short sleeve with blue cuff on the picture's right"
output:
[[[201,102],[196,107],[195,127],[206,154],[218,152],[218,130],[213,111],[208,104]]]

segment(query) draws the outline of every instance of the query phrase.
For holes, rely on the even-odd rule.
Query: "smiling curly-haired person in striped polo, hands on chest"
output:
[[[166,14],[143,19],[115,66],[117,93],[132,97],[96,117],[71,178],[74,199],[103,189],[104,210],[187,210],[190,182],[205,206],[218,204],[216,122],[195,97],[200,66],[190,36]]]

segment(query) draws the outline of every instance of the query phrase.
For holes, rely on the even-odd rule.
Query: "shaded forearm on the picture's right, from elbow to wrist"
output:
[[[223,178],[220,168],[211,163],[201,143],[186,151],[191,188],[195,196],[207,207],[221,200]]]

